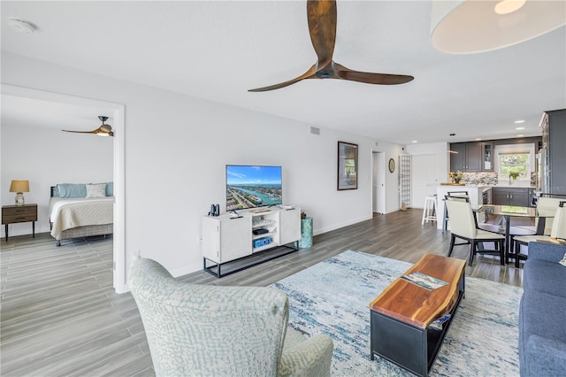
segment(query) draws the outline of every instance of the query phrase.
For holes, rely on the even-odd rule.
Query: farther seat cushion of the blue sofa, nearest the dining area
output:
[[[527,259],[524,264],[523,289],[566,297],[566,267],[541,259]]]

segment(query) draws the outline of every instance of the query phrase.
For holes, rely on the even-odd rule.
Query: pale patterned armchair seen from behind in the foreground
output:
[[[134,261],[128,287],[157,376],[330,375],[332,339],[287,327],[277,289],[189,284],[147,258]]]

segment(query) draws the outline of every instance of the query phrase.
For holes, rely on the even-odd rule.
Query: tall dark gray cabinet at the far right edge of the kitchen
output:
[[[566,195],[566,109],[545,112],[540,126],[543,149],[547,148],[546,191]]]

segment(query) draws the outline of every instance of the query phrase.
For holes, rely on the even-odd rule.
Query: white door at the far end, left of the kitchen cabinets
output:
[[[437,154],[412,156],[413,207],[423,208],[424,198],[436,194],[439,185],[439,157]]]

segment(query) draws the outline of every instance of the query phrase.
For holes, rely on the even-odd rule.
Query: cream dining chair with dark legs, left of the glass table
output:
[[[450,249],[448,257],[452,255],[454,247],[457,245],[470,244],[470,263],[477,253],[499,254],[500,263],[504,265],[504,244],[505,235],[488,232],[478,229],[474,213],[471,211],[471,205],[468,200],[446,196],[447,212],[450,215]],[[456,238],[461,238],[465,242],[455,243]],[[481,249],[478,250],[478,242],[493,242],[494,250]]]

